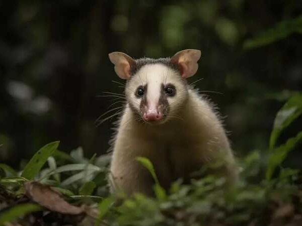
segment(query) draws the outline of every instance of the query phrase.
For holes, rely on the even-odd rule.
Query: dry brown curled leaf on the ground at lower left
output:
[[[43,185],[35,181],[25,182],[26,195],[41,206],[63,214],[80,214],[83,209],[71,205],[66,202],[62,195],[51,189],[49,186]]]

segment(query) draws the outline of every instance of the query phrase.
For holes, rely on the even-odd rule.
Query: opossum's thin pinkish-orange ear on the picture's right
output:
[[[188,78],[196,73],[198,69],[197,61],[199,60],[200,56],[200,50],[186,49],[176,53],[170,61],[171,63],[178,65],[183,78]]]

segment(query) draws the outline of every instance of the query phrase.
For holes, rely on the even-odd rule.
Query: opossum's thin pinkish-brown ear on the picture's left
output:
[[[109,53],[109,59],[114,64],[114,70],[116,74],[122,79],[130,78],[131,65],[135,64],[135,61],[127,54],[121,52]]]

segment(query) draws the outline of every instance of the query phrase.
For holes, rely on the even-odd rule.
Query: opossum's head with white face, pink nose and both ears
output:
[[[127,80],[126,99],[134,114],[149,124],[162,124],[178,117],[188,97],[186,78],[196,73],[200,55],[188,49],[171,58],[134,60],[121,52],[109,58],[117,75]]]

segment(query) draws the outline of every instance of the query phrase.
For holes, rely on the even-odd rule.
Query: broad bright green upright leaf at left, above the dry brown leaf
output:
[[[47,161],[48,157],[54,153],[54,151],[58,148],[58,146],[59,146],[59,141],[55,141],[42,147],[31,158],[29,163],[27,163],[21,176],[29,180],[34,179],[34,177],[39,173],[39,171]]]

